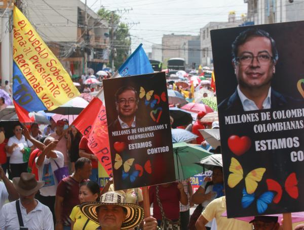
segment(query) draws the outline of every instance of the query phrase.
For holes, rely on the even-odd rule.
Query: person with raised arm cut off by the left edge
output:
[[[6,174],[4,173],[3,168],[0,166],[0,210],[3,205],[9,201],[15,201],[19,198],[19,194],[15,190],[13,183],[8,179]]]

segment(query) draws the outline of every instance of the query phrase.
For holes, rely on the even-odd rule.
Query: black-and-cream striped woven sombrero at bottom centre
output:
[[[125,197],[116,192],[107,192],[100,197],[100,202],[84,202],[80,210],[91,220],[99,224],[96,209],[102,205],[119,205],[127,210],[126,219],[121,229],[136,227],[143,219],[143,209],[136,204],[124,203]]]

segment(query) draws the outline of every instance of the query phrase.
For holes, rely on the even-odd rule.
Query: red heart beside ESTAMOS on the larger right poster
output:
[[[248,136],[231,135],[228,139],[228,147],[235,155],[241,156],[250,149],[251,140]]]

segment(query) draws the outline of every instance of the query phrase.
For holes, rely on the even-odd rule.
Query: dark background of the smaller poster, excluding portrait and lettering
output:
[[[113,124],[113,122],[118,118],[114,95],[120,87],[127,85],[134,87],[138,94],[140,93],[140,87],[144,88],[145,94],[150,90],[154,90],[154,93],[150,100],[148,100],[149,103],[147,105],[145,104],[146,96],[139,99],[135,118],[136,128],[123,129],[124,131],[130,130],[130,134],[113,135],[112,132],[117,131],[117,129],[115,129],[111,124]],[[165,73],[160,72],[106,79],[103,80],[103,86],[115,190],[139,188],[174,181],[175,170]],[[162,94],[163,97],[161,97]],[[160,97],[159,100],[156,99],[156,95]],[[162,99],[165,99],[165,101]],[[151,103],[153,104],[152,107]],[[161,108],[162,114],[160,115],[159,121],[156,122],[160,113],[160,109],[158,108]],[[154,111],[155,113],[151,111]],[[153,120],[152,116],[156,119]],[[139,122],[140,126],[138,127]],[[153,129],[156,127],[161,128],[144,132],[138,131],[145,127],[152,127]],[[134,130],[137,130],[137,132],[133,133]],[[128,137],[130,139],[133,135],[145,133],[153,133],[154,136],[143,139],[128,140]],[[125,149],[123,151],[119,152],[115,149],[114,145],[117,142],[125,143]],[[129,149],[129,144],[141,142],[151,142],[152,146],[134,150]],[[147,154],[149,149],[157,147],[168,147],[168,151]],[[116,167],[117,169],[115,169],[116,154],[119,154],[122,157],[123,162],[121,167]],[[132,158],[134,158],[134,162],[131,163],[129,172],[125,174],[125,172],[123,172],[124,163],[128,159]],[[149,173],[147,161],[150,161],[151,173]],[[145,165],[148,170],[145,170]],[[141,176],[137,172],[139,171],[138,168],[142,168]]]

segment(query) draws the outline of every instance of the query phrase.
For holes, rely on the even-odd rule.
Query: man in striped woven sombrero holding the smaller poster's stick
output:
[[[125,203],[125,197],[116,192],[107,192],[100,202],[85,202],[81,211],[91,220],[100,224],[103,230],[134,228],[143,220],[143,209],[136,204]],[[157,221],[149,216],[144,219],[144,230],[157,229]]]

